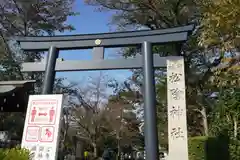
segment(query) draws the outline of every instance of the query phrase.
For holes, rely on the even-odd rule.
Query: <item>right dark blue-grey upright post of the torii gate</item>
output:
[[[151,43],[144,42],[142,48],[144,64],[144,136],[146,159],[158,160],[156,93]]]

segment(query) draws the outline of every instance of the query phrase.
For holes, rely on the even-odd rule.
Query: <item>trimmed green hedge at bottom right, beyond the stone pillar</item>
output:
[[[219,137],[189,138],[189,160],[240,160],[240,142]]]

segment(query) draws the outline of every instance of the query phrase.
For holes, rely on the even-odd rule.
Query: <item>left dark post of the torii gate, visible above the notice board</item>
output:
[[[42,94],[51,94],[54,86],[55,79],[55,65],[58,58],[59,50],[51,46],[47,57],[47,64],[45,69],[45,77],[43,82]]]

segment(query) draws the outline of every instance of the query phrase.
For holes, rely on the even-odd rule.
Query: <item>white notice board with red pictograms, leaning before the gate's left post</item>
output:
[[[62,95],[29,96],[21,146],[33,160],[57,159],[62,101]]]

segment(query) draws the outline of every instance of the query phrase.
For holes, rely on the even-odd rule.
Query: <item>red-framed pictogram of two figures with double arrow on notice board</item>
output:
[[[33,101],[29,124],[53,125],[56,120],[57,101]]]

